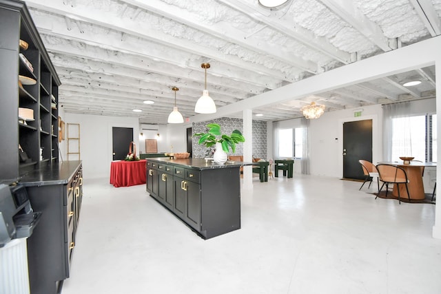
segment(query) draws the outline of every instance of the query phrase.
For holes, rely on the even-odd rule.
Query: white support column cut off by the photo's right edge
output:
[[[438,52],[438,56],[435,59],[435,83],[436,83],[436,113],[441,114],[441,54]],[[437,119],[437,136],[440,138],[441,135],[441,120]],[[436,150],[437,158],[441,156],[441,148],[438,147]],[[436,185],[438,190],[439,185],[441,185],[441,166],[436,165],[436,182],[440,184]],[[437,191],[438,192],[438,191]],[[437,193],[438,194],[438,193]],[[438,198],[438,195],[436,196]],[[435,224],[433,224],[432,236],[433,238],[441,239],[441,204],[440,201],[436,201],[435,204]]]

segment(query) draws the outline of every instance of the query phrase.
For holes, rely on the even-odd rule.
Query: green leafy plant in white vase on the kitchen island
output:
[[[214,162],[216,163],[225,163],[229,149],[234,153],[236,152],[236,144],[245,142],[245,138],[238,129],[235,129],[229,136],[220,132],[220,125],[217,123],[209,123],[207,129],[206,133],[197,133],[194,134],[194,137],[201,137],[198,143],[205,145],[205,147],[216,146],[216,151],[214,151],[213,155]]]

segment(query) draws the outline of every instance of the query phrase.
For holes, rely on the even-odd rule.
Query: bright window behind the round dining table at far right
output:
[[[423,162],[436,161],[436,114],[392,119],[392,160],[413,156]]]

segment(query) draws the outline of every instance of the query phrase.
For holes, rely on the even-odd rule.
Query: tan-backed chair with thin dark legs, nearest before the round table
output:
[[[407,197],[409,198],[409,202],[411,202],[409,188],[407,187],[407,183],[409,182],[409,180],[407,179],[406,171],[401,167],[397,167],[396,165],[377,165],[376,167],[377,167],[378,175],[380,176],[380,181],[383,182],[383,185],[381,185],[381,188],[378,191],[378,193],[380,193],[384,185],[386,185],[386,197],[387,197],[389,184],[397,185],[398,202],[401,204],[400,184],[401,185],[404,184],[407,191]]]

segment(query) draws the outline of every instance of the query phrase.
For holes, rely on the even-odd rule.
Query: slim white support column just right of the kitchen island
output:
[[[253,112],[252,109],[243,110],[243,161],[253,161]],[[253,189],[253,171],[252,167],[243,167],[243,189]]]

